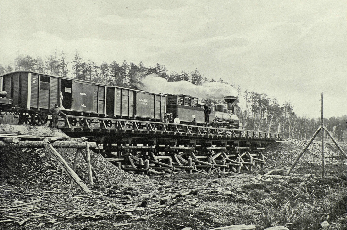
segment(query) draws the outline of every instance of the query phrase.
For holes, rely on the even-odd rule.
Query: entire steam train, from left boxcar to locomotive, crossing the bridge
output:
[[[51,76],[32,71],[16,71],[1,76],[0,112],[13,112],[19,123],[46,124],[50,109],[58,104],[66,115],[163,121],[165,114],[179,115],[181,123],[240,128],[232,104],[200,103],[196,97],[145,92],[118,86]],[[69,117],[75,125],[78,120]]]

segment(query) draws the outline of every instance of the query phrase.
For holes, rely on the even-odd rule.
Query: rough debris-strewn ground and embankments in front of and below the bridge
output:
[[[264,168],[254,172],[210,176],[131,175],[92,154],[103,185],[91,188],[91,194],[70,184],[45,150],[2,149],[0,229],[207,230],[254,224],[257,230],[278,225],[290,230],[345,230],[346,160],[333,144],[325,146],[324,178],[320,143],[304,154],[291,178],[264,176],[289,167],[306,143],[287,140],[268,146]],[[74,153],[59,152],[70,160]],[[88,184],[82,158],[77,174]],[[323,228],[323,221],[329,226]]]

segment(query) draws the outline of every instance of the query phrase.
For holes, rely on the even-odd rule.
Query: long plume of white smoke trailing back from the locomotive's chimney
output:
[[[168,82],[162,77],[150,74],[142,78],[141,83],[141,90],[154,93],[184,94],[215,100],[223,100],[224,96],[238,96],[234,87],[220,82],[205,82],[198,86],[188,81]]]

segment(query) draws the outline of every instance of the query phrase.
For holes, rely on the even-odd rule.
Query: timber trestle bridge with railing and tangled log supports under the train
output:
[[[97,142],[99,153],[121,169],[156,174],[252,171],[264,165],[264,147],[281,140],[262,131],[70,115],[59,128]]]

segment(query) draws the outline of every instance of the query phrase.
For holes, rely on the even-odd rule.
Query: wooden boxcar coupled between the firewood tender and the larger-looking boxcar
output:
[[[166,95],[107,86],[107,116],[160,121],[165,112]]]

